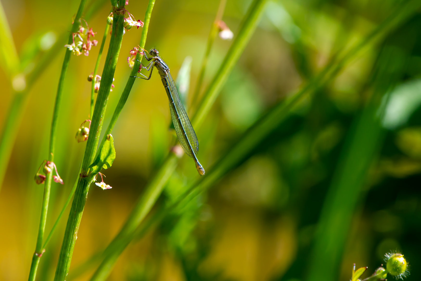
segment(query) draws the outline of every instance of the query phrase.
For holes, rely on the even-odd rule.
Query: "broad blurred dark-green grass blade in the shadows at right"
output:
[[[384,129],[381,119],[384,102],[390,90],[402,78],[408,54],[395,46],[386,45],[378,58],[374,94],[354,120],[325,203],[312,249],[308,281],[337,280],[344,245],[348,237],[354,210],[362,195],[370,165],[381,148]],[[402,63],[404,62],[404,63]]]

